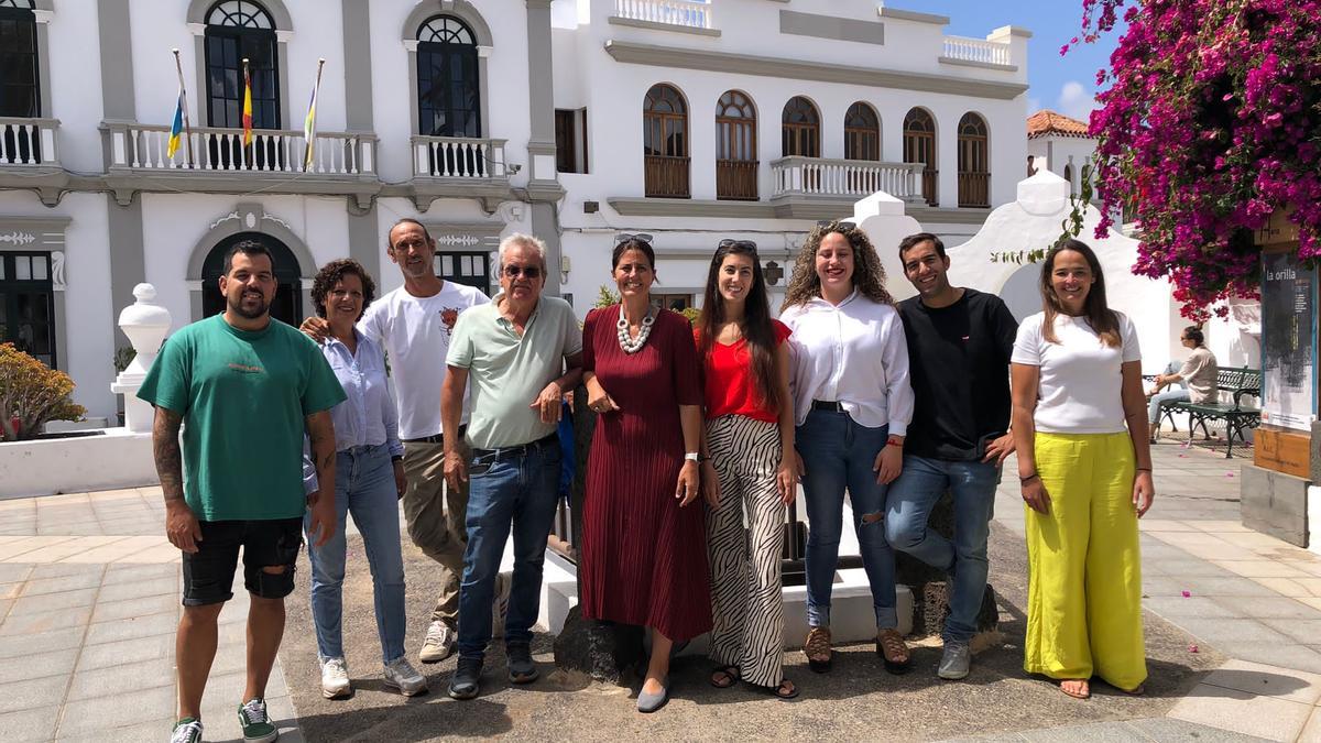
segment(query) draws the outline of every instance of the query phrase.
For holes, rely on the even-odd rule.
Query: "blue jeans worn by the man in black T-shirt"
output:
[[[954,575],[946,641],[968,641],[987,587],[987,535],[995,510],[999,468],[982,461],[905,456],[904,473],[890,483],[885,537],[896,550]],[[935,501],[954,497],[954,541],[926,528]]]

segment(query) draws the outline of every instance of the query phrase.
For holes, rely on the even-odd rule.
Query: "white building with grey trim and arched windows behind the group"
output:
[[[112,418],[133,286],[176,327],[217,312],[242,237],[291,323],[333,258],[398,286],[399,217],[487,291],[499,238],[538,234],[580,315],[621,231],[655,237],[670,305],[724,237],[782,287],[812,223],[876,190],[958,245],[1022,177],[1030,34],[946,24],[875,0],[0,0],[0,340]],[[168,156],[172,49],[190,127]]]

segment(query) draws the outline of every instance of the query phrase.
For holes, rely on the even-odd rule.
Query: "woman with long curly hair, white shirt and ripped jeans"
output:
[[[913,418],[908,345],[885,270],[852,222],[816,225],[798,254],[781,320],[793,331],[794,440],[807,463],[807,624],[816,673],[831,666],[830,598],[839,563],[844,489],[876,611],[876,652],[909,670],[898,632],[894,553],[885,541],[885,490],[900,475]]]

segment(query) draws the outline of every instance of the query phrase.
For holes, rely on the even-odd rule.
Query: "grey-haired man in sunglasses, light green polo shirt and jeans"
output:
[[[523,234],[499,246],[501,293],[458,316],[440,395],[441,426],[457,431],[472,379],[470,461],[445,439],[445,480],[468,492],[468,549],[458,595],[458,668],[449,695],[477,695],[491,637],[495,576],[510,530],[514,579],[505,619],[505,654],[514,684],[536,680],[532,623],[540,603],[546,535],[560,479],[556,427],[564,393],[583,375],[583,332],[573,308],[542,296],[546,243]],[[482,608],[485,607],[485,608]]]

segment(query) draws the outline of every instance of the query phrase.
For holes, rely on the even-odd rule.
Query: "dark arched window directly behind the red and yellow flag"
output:
[[[275,21],[250,0],[222,0],[206,12],[206,120],[243,127],[243,59],[252,79],[252,128],[280,127],[280,70]]]

